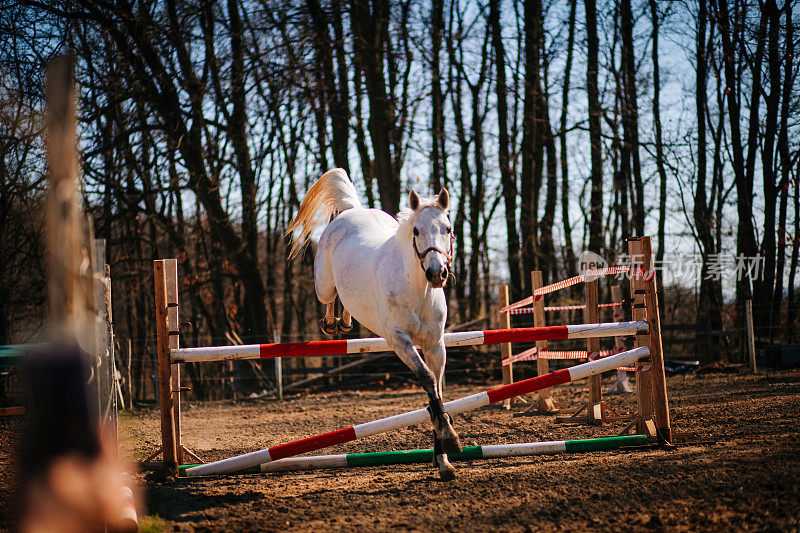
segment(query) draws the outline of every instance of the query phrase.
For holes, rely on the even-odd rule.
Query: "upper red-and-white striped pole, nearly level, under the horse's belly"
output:
[[[587,339],[635,335],[647,331],[647,322],[611,322],[602,324],[576,324],[538,328],[495,329],[485,331],[457,331],[444,334],[446,346],[477,346],[504,342],[535,342],[541,340]],[[227,361],[230,359],[265,359],[273,357],[318,357],[352,353],[385,352],[391,350],[386,340],[346,339],[330,341],[289,342],[270,344],[245,344],[241,346],[210,346],[180,348],[170,352],[173,363],[199,363]]]

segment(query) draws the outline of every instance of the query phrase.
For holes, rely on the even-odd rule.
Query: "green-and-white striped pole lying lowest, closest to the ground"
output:
[[[557,440],[548,442],[525,442],[519,444],[494,444],[466,446],[461,453],[448,455],[451,461],[474,459],[500,459],[504,457],[530,457],[558,453],[600,452],[617,450],[625,446],[644,446],[646,435],[625,435],[598,439]],[[389,466],[413,463],[430,463],[433,450],[398,450],[391,452],[348,453],[338,455],[316,455],[290,457],[263,463],[258,466],[230,472],[231,474],[262,474],[268,472],[290,472],[325,468],[355,468],[360,466]],[[179,467],[180,474],[195,465]]]

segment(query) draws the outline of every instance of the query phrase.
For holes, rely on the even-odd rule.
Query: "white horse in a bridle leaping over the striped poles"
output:
[[[442,406],[447,319],[442,287],[453,254],[449,207],[446,189],[431,199],[420,199],[412,191],[409,208],[395,220],[384,211],[363,207],[347,173],[336,168],[308,190],[287,230],[300,230],[291,258],[317,227],[330,221],[314,257],[317,298],[327,305],[322,330],[346,333],[352,315],[386,339],[414,372],[428,393],[433,462],[446,480],[455,476],[447,454],[461,451],[452,418]],[[344,308],[340,319],[334,316],[337,294]],[[422,348],[424,360],[416,346]]]

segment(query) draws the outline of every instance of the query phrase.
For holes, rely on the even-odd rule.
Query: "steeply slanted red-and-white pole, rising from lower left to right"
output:
[[[531,328],[535,329],[535,328]],[[613,335],[613,334],[612,334]],[[499,341],[499,342],[504,342]],[[497,402],[502,402],[508,398],[514,398],[522,394],[536,392],[544,388],[562,385],[571,381],[586,378],[613,370],[620,366],[629,366],[637,363],[640,359],[647,357],[650,350],[646,346],[634,348],[627,352],[622,352],[610,357],[604,357],[596,361],[589,361],[570,368],[557,370],[544,376],[504,385],[488,391],[479,392],[470,396],[465,396],[457,400],[452,400],[444,404],[445,411],[450,414],[472,411]],[[370,435],[377,435],[394,431],[403,427],[422,424],[429,419],[428,410],[425,408],[416,409],[407,413],[365,422],[349,428],[340,429],[331,433],[324,433],[315,437],[281,444],[258,450],[255,452],[237,455],[221,461],[215,461],[204,465],[198,465],[186,469],[187,476],[205,476],[211,474],[223,474],[235,472],[245,468],[252,468],[262,463],[276,461],[306,452],[313,452],[329,446],[344,444]]]

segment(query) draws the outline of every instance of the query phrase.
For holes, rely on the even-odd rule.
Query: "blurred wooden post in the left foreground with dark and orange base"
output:
[[[20,530],[135,531],[131,490],[123,485],[114,454],[101,439],[100,418],[115,416],[104,408],[98,388],[109,382],[103,379],[109,368],[102,354],[109,349],[106,336],[111,333],[108,324],[95,324],[91,231],[78,194],[70,58],[48,67],[46,95],[49,344],[25,357],[28,416],[21,453]],[[98,281],[105,289],[110,286],[104,274]],[[105,290],[99,297],[110,304]],[[110,313],[103,315],[110,319]],[[96,330],[96,325],[101,327]],[[102,341],[97,342],[100,329]]]

